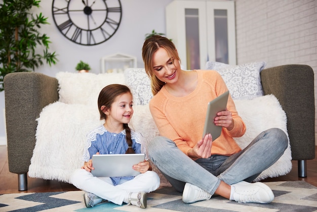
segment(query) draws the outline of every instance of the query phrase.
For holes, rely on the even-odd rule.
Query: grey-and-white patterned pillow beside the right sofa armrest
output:
[[[208,61],[207,69],[217,70],[226,83],[233,99],[253,99],[263,96],[260,72],[266,62],[251,62],[243,65],[228,65]]]

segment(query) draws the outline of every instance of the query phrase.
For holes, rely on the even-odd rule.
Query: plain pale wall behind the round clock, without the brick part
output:
[[[92,1],[92,0],[89,0]],[[145,34],[153,29],[165,33],[165,7],[172,0],[121,0],[122,20],[114,36],[96,46],[82,46],[66,39],[55,26],[52,17],[52,0],[42,0],[41,8],[34,8],[35,13],[42,12],[48,17],[50,25],[41,31],[48,34],[52,44],[51,51],[56,51],[59,62],[50,67],[44,65],[35,72],[54,77],[58,72],[75,72],[77,62],[83,60],[91,65],[92,73],[100,72],[100,58],[115,53],[129,54],[137,57],[138,67],[144,67],[141,49]],[[0,92],[0,145],[6,144],[3,109],[4,92]]]

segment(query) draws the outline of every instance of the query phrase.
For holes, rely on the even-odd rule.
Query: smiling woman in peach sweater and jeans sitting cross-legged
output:
[[[218,194],[237,202],[271,202],[268,186],[250,182],[283,155],[287,135],[268,129],[241,150],[233,137],[242,136],[246,126],[229,96],[227,110],[214,120],[222,126],[220,137],[202,138],[207,103],[227,91],[221,76],[214,70],[182,70],[174,44],[161,36],[144,42],[142,57],[154,95],[149,107],[161,134],[148,145],[149,157],[183,192],[183,201]]]

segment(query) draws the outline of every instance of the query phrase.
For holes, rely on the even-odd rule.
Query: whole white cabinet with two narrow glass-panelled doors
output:
[[[234,1],[174,0],[166,7],[166,37],[185,69],[208,60],[236,64]]]

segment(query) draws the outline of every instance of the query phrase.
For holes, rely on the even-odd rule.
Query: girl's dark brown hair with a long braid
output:
[[[98,96],[98,109],[100,113],[100,120],[107,119],[107,115],[104,114],[104,112],[111,108],[111,104],[114,102],[117,96],[120,96],[125,93],[130,93],[132,96],[130,89],[127,86],[120,85],[120,84],[108,85],[100,91]],[[103,105],[105,106],[105,108],[102,111],[101,107]],[[128,124],[125,124],[125,123],[123,124],[123,127],[126,130],[126,139],[127,139],[127,144],[129,147],[126,153],[135,153],[134,150],[132,149],[131,129],[128,126]]]

